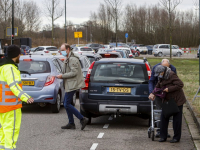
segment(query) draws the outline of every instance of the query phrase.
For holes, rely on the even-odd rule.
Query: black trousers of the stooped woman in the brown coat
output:
[[[173,115],[173,129],[174,129],[173,139],[179,141],[181,139],[183,105],[178,106],[178,108],[180,111],[177,114]],[[160,120],[161,120],[160,138],[167,139],[169,118],[165,118],[163,113],[161,113]]]

